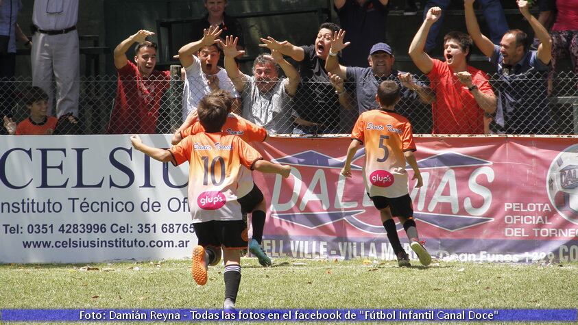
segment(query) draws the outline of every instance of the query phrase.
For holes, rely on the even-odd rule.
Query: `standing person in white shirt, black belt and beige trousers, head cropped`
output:
[[[56,77],[56,116],[78,116],[80,53],[78,50],[78,0],[35,0],[32,23],[32,86],[49,94],[52,114],[52,75]]]

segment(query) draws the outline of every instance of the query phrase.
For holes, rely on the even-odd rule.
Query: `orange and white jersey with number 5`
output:
[[[365,145],[363,179],[370,196],[398,198],[408,193],[405,151],[416,151],[411,124],[381,109],[359,116],[351,137]]]

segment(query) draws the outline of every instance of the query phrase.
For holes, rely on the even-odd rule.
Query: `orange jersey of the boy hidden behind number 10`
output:
[[[204,131],[204,127],[201,125],[199,120],[197,120],[193,125],[191,125],[191,127],[187,127],[181,131],[180,135],[184,139],[188,135]],[[239,138],[243,139],[243,141],[247,143],[263,142],[267,138],[267,131],[264,127],[259,127],[258,125],[255,125],[235,114],[229,114],[227,116],[222,132],[225,134],[239,135]]]

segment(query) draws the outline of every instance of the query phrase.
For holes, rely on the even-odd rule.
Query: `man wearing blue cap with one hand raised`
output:
[[[359,114],[370,109],[378,109],[375,101],[377,88],[382,81],[392,80],[401,88],[400,107],[405,106],[403,101],[419,99],[422,103],[429,104],[433,101],[434,94],[428,86],[413,79],[411,74],[403,73],[393,68],[395,57],[392,48],[385,43],[376,43],[370,50],[368,62],[369,68],[355,66],[342,66],[337,62],[337,53],[347,47],[350,42],[344,44],[345,31],[336,31],[329,49],[329,55],[325,62],[325,69],[330,75],[337,75],[346,82],[352,82],[357,95],[357,109]],[[409,116],[406,116],[411,120]]]

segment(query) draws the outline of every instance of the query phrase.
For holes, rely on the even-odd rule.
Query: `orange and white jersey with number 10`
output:
[[[263,159],[258,151],[236,135],[221,132],[189,135],[169,151],[175,166],[189,161],[189,207],[193,223],[241,220],[237,198],[252,189],[252,166]],[[248,185],[249,188],[242,188]]]

